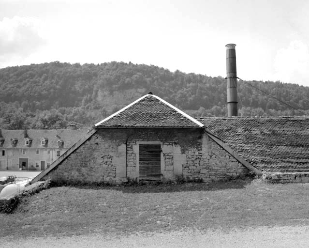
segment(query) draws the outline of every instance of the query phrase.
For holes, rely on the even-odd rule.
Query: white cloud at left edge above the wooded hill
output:
[[[27,58],[45,44],[38,18],[14,16],[0,21],[0,67]]]

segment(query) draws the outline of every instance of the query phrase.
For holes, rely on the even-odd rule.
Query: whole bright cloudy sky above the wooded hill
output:
[[[308,0],[0,0],[0,68],[43,62],[153,64],[309,86]]]

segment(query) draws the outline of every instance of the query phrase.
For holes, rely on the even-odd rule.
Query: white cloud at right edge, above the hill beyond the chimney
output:
[[[294,40],[280,48],[274,60],[274,79],[309,86],[309,45]]]

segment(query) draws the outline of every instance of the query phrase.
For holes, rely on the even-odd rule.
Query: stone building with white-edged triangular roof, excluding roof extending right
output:
[[[250,168],[213,140],[204,124],[149,93],[95,124],[70,155],[38,178],[118,183],[184,176],[209,182],[246,175]]]

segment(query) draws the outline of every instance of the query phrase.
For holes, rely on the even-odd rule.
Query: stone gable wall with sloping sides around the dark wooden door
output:
[[[48,176],[65,182],[138,181],[138,146],[160,143],[162,180],[176,175],[205,182],[245,175],[248,169],[202,129],[100,129]]]

